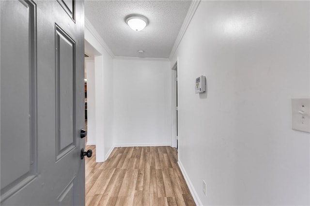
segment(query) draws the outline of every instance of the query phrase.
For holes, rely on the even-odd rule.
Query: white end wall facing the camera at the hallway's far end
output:
[[[171,144],[170,62],[114,59],[116,146]]]

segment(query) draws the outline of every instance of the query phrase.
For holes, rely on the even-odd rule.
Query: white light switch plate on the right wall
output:
[[[310,98],[292,99],[292,129],[310,132]]]

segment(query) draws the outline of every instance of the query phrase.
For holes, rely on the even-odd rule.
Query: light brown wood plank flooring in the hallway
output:
[[[195,206],[171,147],[115,147],[86,158],[86,206]]]

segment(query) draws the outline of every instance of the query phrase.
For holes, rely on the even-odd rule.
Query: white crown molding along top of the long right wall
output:
[[[185,17],[185,19],[183,21],[183,24],[181,26],[181,29],[179,31],[179,34],[176,37],[176,40],[175,40],[175,42],[174,42],[174,44],[172,46],[172,49],[171,49],[171,52],[170,52],[170,55],[169,55],[169,59],[172,58],[172,56],[174,55],[175,51],[177,50],[177,48],[178,48],[178,46],[179,46],[179,44],[180,44],[180,42],[181,42],[185,32],[186,32],[186,29],[187,29],[190,21],[192,20],[195,12],[196,12],[196,9],[197,9],[200,1],[201,0],[192,0],[191,4],[189,6],[189,9],[187,11],[186,17]]]

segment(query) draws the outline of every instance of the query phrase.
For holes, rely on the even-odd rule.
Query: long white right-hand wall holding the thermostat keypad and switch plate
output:
[[[203,205],[310,205],[310,134],[291,129],[291,98],[310,95],[309,8],[201,1],[171,66],[179,161]]]

